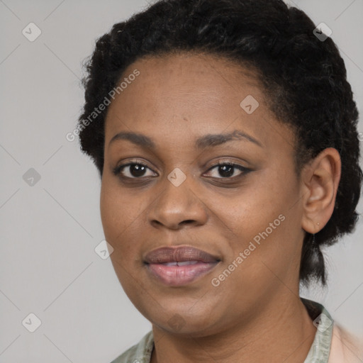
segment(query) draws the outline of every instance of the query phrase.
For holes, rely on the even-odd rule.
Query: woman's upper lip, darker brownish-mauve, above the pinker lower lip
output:
[[[190,246],[160,247],[150,251],[145,256],[145,262],[147,264],[162,264],[165,262],[183,261],[219,262],[220,259],[206,251]]]

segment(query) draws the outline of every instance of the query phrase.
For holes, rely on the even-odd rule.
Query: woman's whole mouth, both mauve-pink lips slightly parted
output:
[[[191,284],[220,262],[216,256],[194,247],[161,247],[145,257],[147,271],[167,286]]]

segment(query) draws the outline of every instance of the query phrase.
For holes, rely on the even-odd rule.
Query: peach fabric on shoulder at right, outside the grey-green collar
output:
[[[363,340],[339,325],[334,325],[328,363],[361,363]]]

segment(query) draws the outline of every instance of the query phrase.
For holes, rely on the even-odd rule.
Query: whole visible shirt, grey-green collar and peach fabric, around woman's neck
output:
[[[313,344],[303,363],[363,363],[362,342],[334,323],[320,303],[301,298],[317,328]],[[154,338],[152,331],[111,363],[150,363]]]

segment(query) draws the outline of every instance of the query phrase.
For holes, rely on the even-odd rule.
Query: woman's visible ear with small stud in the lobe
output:
[[[342,162],[333,147],[320,152],[303,168],[301,227],[308,233],[318,233],[333,214]]]

